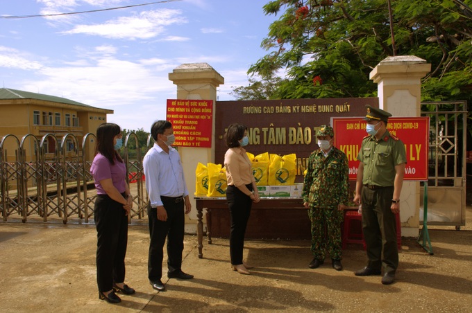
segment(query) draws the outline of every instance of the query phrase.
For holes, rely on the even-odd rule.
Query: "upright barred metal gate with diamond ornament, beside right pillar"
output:
[[[465,225],[467,102],[421,102],[430,117],[428,224]],[[423,183],[421,183],[423,184]],[[423,188],[420,188],[423,208]],[[421,211],[420,210],[420,211]],[[420,212],[420,222],[423,212]]]

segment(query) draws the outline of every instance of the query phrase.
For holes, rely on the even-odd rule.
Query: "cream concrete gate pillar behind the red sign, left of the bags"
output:
[[[185,231],[187,233],[196,233],[195,170],[199,162],[205,165],[209,162],[214,163],[215,102],[217,101],[217,87],[220,84],[224,84],[224,78],[212,66],[206,63],[189,63],[176,67],[172,73],[169,73],[169,80],[177,85],[177,99],[213,100],[211,147],[178,147],[189,190],[189,197],[192,202],[192,212],[189,214],[189,217],[186,217]]]

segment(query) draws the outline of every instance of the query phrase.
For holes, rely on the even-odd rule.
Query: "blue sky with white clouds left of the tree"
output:
[[[0,16],[44,15],[153,0],[3,0]],[[181,0],[58,17],[0,19],[1,87],[113,109],[108,121],[149,131],[176,98],[180,64],[205,62],[224,78],[219,100],[248,85],[249,66],[278,17],[269,0]]]

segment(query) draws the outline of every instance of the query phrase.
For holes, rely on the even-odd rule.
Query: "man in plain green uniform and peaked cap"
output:
[[[394,282],[398,267],[395,215],[407,162],[405,145],[387,130],[389,112],[366,106],[366,132],[357,155],[360,161],[354,202],[362,204],[362,231],[369,262],[356,276],[380,275],[382,284]]]

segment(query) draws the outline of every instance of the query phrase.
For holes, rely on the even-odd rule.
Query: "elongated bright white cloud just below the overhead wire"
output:
[[[180,15],[180,10],[145,11],[133,17],[118,17],[103,24],[78,25],[62,33],[96,35],[112,39],[150,39],[163,33],[165,26],[187,23],[187,19]]]

